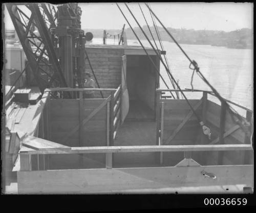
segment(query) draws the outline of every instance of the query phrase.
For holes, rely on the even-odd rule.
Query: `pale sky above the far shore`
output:
[[[138,27],[124,3],[118,3],[132,27]],[[140,25],[145,25],[137,3],[128,4]],[[152,19],[144,3],[140,4],[144,15],[152,26]],[[152,10],[165,27],[195,30],[233,31],[252,29],[252,3],[150,3]],[[126,23],[115,3],[79,3],[82,10],[82,29],[121,29]],[[14,29],[7,10],[5,24]],[[160,26],[159,23],[157,23]],[[127,23],[126,26],[128,27]]]

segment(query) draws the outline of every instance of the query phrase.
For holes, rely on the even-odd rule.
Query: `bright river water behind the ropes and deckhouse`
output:
[[[93,43],[102,44],[102,38],[94,38]],[[140,45],[135,40],[127,40],[128,45]],[[143,45],[150,46],[146,40]],[[163,41],[166,57],[173,76],[179,80],[182,89],[191,88],[190,80],[193,70],[190,70],[189,61],[178,49],[175,43]],[[114,44],[108,39],[107,44]],[[117,44],[117,40],[115,41]],[[160,47],[159,43],[157,45]],[[222,46],[180,44],[187,55],[198,63],[202,74],[224,98],[239,105],[253,108],[253,51],[247,49],[228,49]],[[172,88],[166,70],[161,64],[160,73],[166,83]],[[194,75],[194,89],[210,90],[210,88]],[[166,88],[160,81],[160,88]],[[189,98],[199,98],[202,94],[186,92]],[[234,107],[236,109],[236,107]]]

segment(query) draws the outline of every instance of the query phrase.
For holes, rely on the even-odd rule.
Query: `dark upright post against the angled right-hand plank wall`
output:
[[[225,121],[226,121],[226,110],[227,105],[225,102],[221,102],[221,114],[220,114],[220,144],[224,144],[224,133],[225,133]],[[220,151],[218,154],[218,164],[222,165],[223,163],[223,152]]]

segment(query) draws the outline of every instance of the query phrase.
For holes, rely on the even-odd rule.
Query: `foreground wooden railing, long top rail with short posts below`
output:
[[[250,145],[180,145],[180,146],[106,146],[106,147],[66,147],[66,148],[42,148],[33,150],[24,148],[20,151],[20,171],[31,171],[32,155],[51,154],[106,154],[105,168],[111,169],[113,165],[113,153],[135,152],[198,152],[198,151],[241,151],[252,150]],[[68,156],[67,156],[68,157]],[[42,158],[45,159],[45,158]],[[39,164],[39,162],[38,162]],[[43,164],[46,164],[45,162]]]

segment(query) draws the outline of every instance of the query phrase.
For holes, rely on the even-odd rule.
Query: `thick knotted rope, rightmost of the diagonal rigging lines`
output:
[[[152,9],[148,6],[148,4],[146,4],[146,7],[152,12],[152,14],[156,17],[156,19],[159,21],[159,23],[162,25],[162,27],[164,28],[164,30],[166,31],[166,33],[173,39],[173,41],[176,43],[176,45],[179,47],[179,49],[182,51],[182,53],[185,55],[185,57],[189,60],[190,65],[194,66],[194,69],[196,70],[198,76],[211,88],[211,90],[216,94],[216,97],[221,101],[221,103],[223,103],[224,105],[227,106],[227,110],[231,113],[232,119],[239,124],[239,126],[243,129],[243,131],[248,135],[250,134],[248,127],[250,126],[250,123],[244,119],[240,114],[238,114],[238,112],[236,110],[234,110],[225,100],[224,98],[221,97],[221,95],[219,94],[219,92],[207,81],[207,79],[204,77],[204,75],[200,72],[200,69],[198,67],[198,64],[196,61],[191,60],[188,55],[185,53],[185,51],[181,48],[181,46],[179,45],[179,43],[175,40],[175,38],[172,36],[172,34],[170,34],[170,32],[165,28],[165,26],[163,25],[163,23],[159,20],[159,18],[156,16],[156,14],[152,11]],[[236,117],[236,119],[234,118]]]

